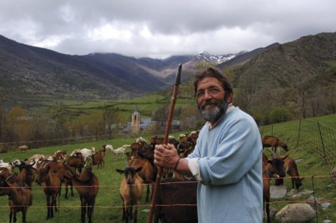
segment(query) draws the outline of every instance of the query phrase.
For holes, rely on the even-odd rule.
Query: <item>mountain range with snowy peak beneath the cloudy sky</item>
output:
[[[64,55],[0,36],[0,94],[7,104],[26,107],[59,99],[128,99],[172,85],[179,64],[183,64],[183,77],[190,78],[200,62],[230,68],[235,87],[251,75],[258,77],[260,85],[293,87],[302,76],[316,78],[332,70],[335,41],[335,33],[317,34],[250,52],[153,59],[116,53]]]

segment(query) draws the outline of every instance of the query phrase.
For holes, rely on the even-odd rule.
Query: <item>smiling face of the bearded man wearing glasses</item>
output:
[[[198,82],[196,100],[198,110],[211,124],[217,122],[228,108],[225,90],[216,78],[206,77]]]

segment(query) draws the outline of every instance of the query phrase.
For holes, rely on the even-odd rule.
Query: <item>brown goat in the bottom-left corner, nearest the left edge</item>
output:
[[[33,194],[31,190],[28,189],[27,185],[21,182],[13,182],[16,180],[10,179],[12,175],[8,178],[3,178],[0,175],[0,196],[8,195],[8,206],[10,208],[9,222],[16,222],[16,213],[22,212],[22,222],[26,223],[26,215],[28,206],[31,206],[33,202]]]

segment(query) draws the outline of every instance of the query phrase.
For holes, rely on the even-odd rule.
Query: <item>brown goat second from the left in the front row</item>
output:
[[[36,183],[41,185],[45,182],[43,191],[47,199],[47,220],[54,217],[54,208],[57,211],[57,195],[59,195],[61,180],[59,179],[58,173],[55,171],[50,171],[50,166],[39,168],[36,178]]]

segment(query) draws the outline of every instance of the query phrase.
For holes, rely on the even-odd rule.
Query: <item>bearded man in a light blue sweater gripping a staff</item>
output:
[[[253,117],[232,105],[228,78],[214,67],[195,75],[195,98],[207,122],[192,154],[155,146],[155,164],[193,175],[198,222],[262,222],[262,143]]]

